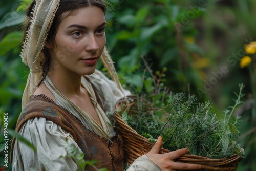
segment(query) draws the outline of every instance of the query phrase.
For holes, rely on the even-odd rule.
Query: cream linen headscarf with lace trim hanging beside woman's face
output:
[[[26,106],[29,96],[35,92],[37,84],[43,79],[42,64],[45,61],[45,55],[42,49],[44,49],[48,32],[58,10],[60,1],[61,0],[36,0],[32,9],[30,25],[26,31],[23,49],[20,54],[22,61],[30,68],[22,97],[22,109]],[[104,48],[102,52],[101,60],[117,87],[123,92],[113,61],[106,48]]]

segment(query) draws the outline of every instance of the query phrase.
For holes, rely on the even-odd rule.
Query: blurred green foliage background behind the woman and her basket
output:
[[[237,114],[241,115],[238,143],[245,149],[246,158],[238,170],[253,170],[256,167],[253,161],[256,111],[252,109],[255,85],[250,83],[248,68],[241,69],[239,62],[244,56],[244,44],[256,41],[253,24],[256,2],[112,2],[113,10],[106,14],[109,22],[106,46],[126,88],[142,85],[143,56],[153,71],[167,68],[165,86],[171,91],[195,94],[199,101],[210,100],[212,110],[222,117],[223,110],[233,104],[233,92],[238,92],[238,84],[245,84],[245,103]],[[20,113],[28,75],[27,67],[19,58],[23,36],[20,22],[24,16],[24,11],[15,12],[19,4],[17,0],[0,2],[0,106],[1,114],[8,112],[9,129],[14,129]],[[98,67],[101,68],[101,64]],[[0,167],[2,159],[1,153]]]

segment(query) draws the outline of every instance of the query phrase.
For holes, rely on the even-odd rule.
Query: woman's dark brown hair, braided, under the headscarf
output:
[[[31,18],[31,11],[33,9],[33,6],[35,4],[35,0],[31,3],[31,5],[27,9],[27,25],[25,27],[26,30],[28,30],[29,27],[29,21]],[[106,11],[106,2],[104,0],[60,0],[58,10],[55,14],[55,17],[53,19],[52,25],[49,29],[48,36],[46,39],[46,42],[51,42],[54,40],[56,36],[56,32],[58,30],[58,27],[61,23],[61,20],[63,19],[62,14],[67,11],[76,10],[78,8],[87,7],[87,6],[96,6],[99,7],[104,13]],[[26,35],[26,32],[25,32]],[[25,38],[25,36],[24,36]],[[45,61],[42,63],[42,80],[38,83],[37,87],[40,86],[41,82],[45,79],[49,69],[50,69],[50,53],[49,50],[44,47],[43,49],[44,55],[45,55]]]

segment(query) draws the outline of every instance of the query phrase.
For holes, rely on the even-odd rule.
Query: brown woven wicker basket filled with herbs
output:
[[[127,96],[127,100],[130,103],[130,106],[136,105],[135,96]],[[125,160],[127,163],[131,164],[135,159],[140,157],[143,154],[146,154],[151,150],[154,143],[148,141],[145,137],[139,135],[135,130],[133,130],[129,125],[127,125],[121,118],[118,111],[122,110],[124,112],[128,108],[123,108],[126,101],[124,98],[121,98],[117,101],[115,106],[115,116],[116,116],[116,127],[118,128],[119,133],[123,138],[123,146],[125,153]],[[167,149],[161,148],[160,153],[170,152]],[[202,165],[202,170],[236,170],[239,161],[242,158],[234,154],[229,158],[223,159],[210,159],[197,155],[185,154],[178,159],[176,162],[185,162],[185,163],[197,163]]]

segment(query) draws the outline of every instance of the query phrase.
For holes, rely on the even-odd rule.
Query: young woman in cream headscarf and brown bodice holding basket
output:
[[[35,147],[14,139],[13,170],[79,170],[83,153],[97,168],[123,170],[122,138],[109,114],[123,90],[105,49],[106,5],[102,0],[36,0],[27,10],[21,57],[30,68],[16,131]],[[114,81],[96,70],[102,59]],[[186,170],[176,163],[187,149],[158,154],[158,142],[129,170]],[[87,166],[86,170],[95,170]]]

